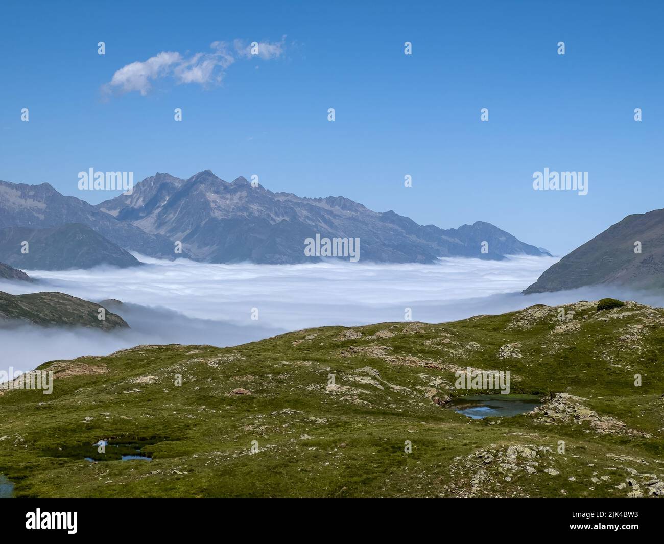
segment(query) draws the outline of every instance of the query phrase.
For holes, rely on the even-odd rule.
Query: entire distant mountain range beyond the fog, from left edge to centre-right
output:
[[[89,250],[69,247],[73,232],[57,244],[65,260],[76,256],[80,266],[107,262],[135,264],[122,250],[155,258],[187,257],[205,262],[291,264],[319,260],[305,256],[307,238],[359,238],[361,259],[373,262],[435,262],[439,257],[502,259],[510,254],[548,255],[490,223],[442,229],[418,225],[394,211],[378,213],[345,197],[306,198],[273,193],[244,177],[231,183],[210,170],[189,179],[157,173],[137,183],[131,195],[92,206],[65,197],[48,183],[26,185],[0,181],[0,228],[44,229],[76,223],[108,240]],[[68,227],[73,229],[73,227]],[[78,242],[84,234],[78,228]],[[44,232],[34,236],[52,236]],[[61,234],[61,233],[59,233]],[[58,234],[58,235],[59,235]],[[17,260],[14,236],[7,231],[9,254],[0,259],[25,268],[72,268],[55,256],[35,254]],[[8,238],[8,239],[9,239]],[[181,242],[181,252],[177,252]],[[85,258],[83,253],[86,254]]]

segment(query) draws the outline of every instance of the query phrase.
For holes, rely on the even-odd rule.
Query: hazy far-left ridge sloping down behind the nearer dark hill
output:
[[[49,228],[66,223],[82,223],[122,248],[151,257],[175,256],[173,241],[118,221],[76,197],[65,197],[48,183],[0,181],[0,228]]]

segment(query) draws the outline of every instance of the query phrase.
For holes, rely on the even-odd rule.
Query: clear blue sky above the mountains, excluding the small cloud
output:
[[[112,195],[78,191],[79,171],[257,174],[272,191],[344,195],[422,224],[488,221],[564,254],[664,207],[663,15],[656,1],[9,1],[0,179],[98,203]],[[132,62],[234,40],[279,54],[235,51],[219,83],[102,92]],[[534,191],[544,167],[588,171],[588,195]]]

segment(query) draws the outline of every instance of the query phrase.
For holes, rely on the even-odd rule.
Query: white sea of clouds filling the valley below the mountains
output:
[[[24,325],[0,329],[0,370],[31,370],[44,361],[108,355],[139,344],[238,345],[321,325],[402,321],[439,323],[501,314],[533,304],[556,306],[616,296],[664,306],[664,297],[615,288],[523,295],[557,258],[513,256],[501,261],[445,258],[436,264],[202,264],[136,255],[134,268],[26,270],[37,284],[0,282],[11,294],[60,291],[100,302],[117,299],[131,329],[110,333]],[[252,319],[252,312],[258,319]]]

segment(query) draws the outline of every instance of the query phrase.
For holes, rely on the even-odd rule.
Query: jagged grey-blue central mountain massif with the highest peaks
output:
[[[157,173],[133,195],[98,205],[151,234],[181,240],[195,258],[211,262],[311,262],[306,238],[359,238],[362,260],[433,262],[438,257],[500,259],[543,255],[489,223],[458,229],[418,225],[393,211],[376,213],[345,197],[303,198],[273,193],[238,177],[227,183],[206,170],[187,180]],[[488,252],[481,252],[482,242]],[[348,258],[348,257],[345,257]]]

